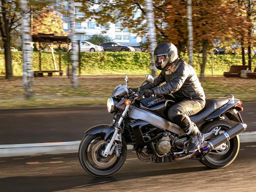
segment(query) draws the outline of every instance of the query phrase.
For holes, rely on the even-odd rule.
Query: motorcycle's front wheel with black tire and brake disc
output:
[[[126,143],[122,139],[121,153],[103,157],[107,142],[99,135],[86,135],[79,145],[79,161],[84,170],[94,177],[109,177],[116,173],[123,165],[126,159]]]

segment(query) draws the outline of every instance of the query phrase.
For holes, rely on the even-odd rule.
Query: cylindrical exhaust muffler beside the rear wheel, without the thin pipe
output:
[[[245,131],[247,125],[245,123],[239,123],[237,125],[232,126],[229,130],[224,132],[221,135],[218,135],[217,137],[211,139],[208,141],[207,149],[210,148],[210,150],[214,149],[215,147],[219,146],[221,143],[224,143],[233,137],[236,137],[238,134]],[[205,148],[205,147],[204,147]],[[202,151],[205,151],[204,149]]]

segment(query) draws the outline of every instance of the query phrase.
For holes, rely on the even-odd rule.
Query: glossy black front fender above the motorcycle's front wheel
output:
[[[109,124],[99,124],[91,127],[89,130],[84,132],[86,135],[100,135],[104,140],[108,140],[114,133],[115,128]]]

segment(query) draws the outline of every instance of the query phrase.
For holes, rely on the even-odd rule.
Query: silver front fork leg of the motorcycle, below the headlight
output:
[[[130,105],[125,105],[125,108],[124,108],[124,111],[123,111],[121,117],[119,118],[118,122],[115,124],[115,132],[114,132],[113,136],[111,137],[110,142],[108,144],[106,144],[105,150],[102,151],[101,155],[103,157],[107,157],[110,154],[110,152],[112,151],[111,147],[115,140],[122,141],[121,136],[118,134],[118,132],[120,131],[119,127],[123,121],[123,118],[125,117],[126,113],[128,112],[129,107],[130,107]]]

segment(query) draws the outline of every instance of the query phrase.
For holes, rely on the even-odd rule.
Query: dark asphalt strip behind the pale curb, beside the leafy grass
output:
[[[256,102],[243,102],[246,132],[256,131]],[[81,140],[83,132],[112,120],[106,106],[0,110],[0,144]]]

